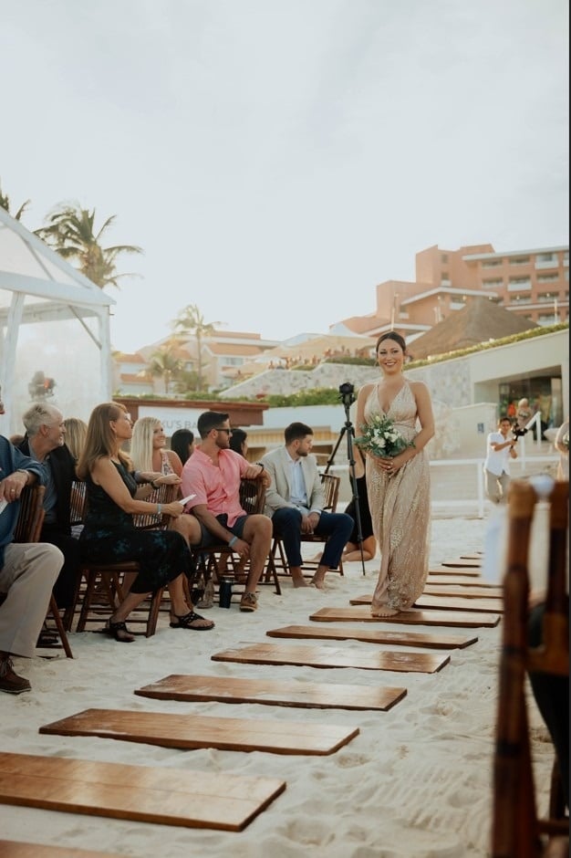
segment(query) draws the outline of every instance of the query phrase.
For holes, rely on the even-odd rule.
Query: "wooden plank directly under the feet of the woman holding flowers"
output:
[[[309,617],[317,623],[399,623],[400,625],[441,625],[466,629],[493,628],[500,622],[499,613],[452,612],[452,611],[400,611],[394,617],[373,617],[369,605],[351,608],[320,608]]]

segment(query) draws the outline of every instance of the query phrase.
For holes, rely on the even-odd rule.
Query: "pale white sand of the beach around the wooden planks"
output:
[[[483,549],[485,521],[441,519],[432,524],[433,563]],[[32,693],[0,695],[5,751],[98,759],[176,770],[226,771],[279,778],[285,792],[240,833],[116,821],[74,813],[0,805],[0,837],[123,855],[294,856],[327,858],[470,858],[489,853],[493,732],[501,624],[477,634],[472,646],[453,650],[451,663],[432,675],[358,669],[216,663],[211,654],[241,643],[270,643],[268,629],[306,624],[322,606],[348,606],[348,599],[372,591],[377,561],[348,564],[344,578],[330,573],[326,593],[313,588],[281,597],[260,591],[260,609],[243,614],[214,607],[209,633],[174,631],[161,614],[151,639],[119,644],[103,635],[71,634],[74,660],[58,657],[17,660]],[[337,624],[337,623],[336,623]],[[348,624],[349,625],[349,624]],[[376,626],[368,624],[368,629]],[[395,624],[379,626],[395,630]],[[409,631],[434,632],[429,627]],[[442,632],[462,630],[442,629]],[[275,641],[279,643],[279,641]],[[285,641],[282,643],[286,643]],[[296,642],[291,642],[296,643]],[[319,642],[316,642],[319,643]],[[323,642],[335,645],[338,642]],[[348,641],[355,652],[377,644]],[[382,646],[381,649],[395,649]],[[406,648],[410,652],[410,648]],[[430,651],[437,652],[437,651]],[[438,651],[440,652],[440,651]],[[171,673],[299,679],[361,685],[399,685],[407,696],[389,712],[177,703],[134,696],[133,690]],[[38,727],[96,706],[215,717],[283,719],[299,723],[358,726],[360,733],[326,757],[240,753],[213,749],[182,751],[105,738],[42,736]],[[536,773],[546,790],[553,749],[533,710]]]

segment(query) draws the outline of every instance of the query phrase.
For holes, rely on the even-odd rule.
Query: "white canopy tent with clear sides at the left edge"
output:
[[[0,208],[3,434],[21,432],[22,413],[40,397],[84,420],[94,404],[109,400],[114,303]],[[44,393],[36,392],[38,379],[46,380]]]

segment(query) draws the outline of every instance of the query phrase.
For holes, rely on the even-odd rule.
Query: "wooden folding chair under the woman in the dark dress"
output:
[[[178,486],[161,485],[155,492],[157,503],[170,504],[176,500],[178,495]],[[171,524],[171,516],[163,514],[158,516],[156,513],[145,515],[137,515],[134,517],[135,525],[141,530],[166,530]],[[103,597],[109,605],[111,611],[115,610],[116,604],[122,602],[125,596],[123,581],[126,575],[138,574],[140,565],[136,560],[125,560],[121,563],[88,563],[81,564],[81,575],[85,577],[86,587],[81,600],[81,610],[79,612],[77,632],[85,632],[87,623],[100,623],[100,604],[94,607],[96,597]],[[97,589],[99,585],[99,590]],[[146,619],[141,620],[137,616],[137,612],[130,615],[129,623],[145,623],[145,636],[152,637],[156,632],[157,622],[159,619],[159,611],[161,609],[161,599],[164,588],[154,591],[151,594],[149,611]],[[79,598],[79,591],[78,591]],[[99,611],[98,611],[99,608]],[[142,605],[139,606],[140,612]],[[93,615],[91,613],[93,612]]]

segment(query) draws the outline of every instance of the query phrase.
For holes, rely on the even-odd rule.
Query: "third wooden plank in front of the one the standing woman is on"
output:
[[[172,674],[135,691],[160,700],[218,700],[221,703],[263,703],[319,709],[381,709],[387,711],[406,688],[379,685],[308,683],[298,680],[244,679],[237,676]]]

